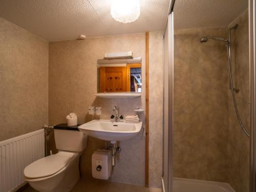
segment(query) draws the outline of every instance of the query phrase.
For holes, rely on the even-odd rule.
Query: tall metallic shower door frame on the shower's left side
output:
[[[163,173],[162,191],[172,192],[173,189],[173,96],[174,96],[174,8],[175,0],[170,0],[166,29],[163,35],[164,72],[163,78]],[[166,39],[165,39],[166,38]],[[166,47],[165,47],[166,43]],[[165,50],[166,48],[166,50]],[[166,55],[165,55],[166,54]],[[165,58],[166,57],[166,58]],[[165,75],[163,75],[165,76]],[[165,137],[164,137],[165,136]],[[166,146],[166,148],[165,148]]]

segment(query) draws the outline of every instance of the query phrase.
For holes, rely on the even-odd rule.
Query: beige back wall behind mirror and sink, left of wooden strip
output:
[[[97,98],[97,59],[107,52],[133,51],[134,57],[142,57],[142,96],[133,99]],[[109,119],[113,106],[119,114],[135,114],[134,109],[145,108],[145,34],[115,35],[85,40],[67,40],[49,43],[49,124],[66,122],[66,115],[74,112],[78,123],[92,120],[88,106],[101,106],[100,118]],[[95,118],[97,118],[95,116]],[[144,122],[145,115],[140,118]],[[89,138],[81,157],[82,176],[91,177],[92,153],[104,141]],[[145,137],[119,142],[122,151],[117,157],[111,181],[144,185]]]

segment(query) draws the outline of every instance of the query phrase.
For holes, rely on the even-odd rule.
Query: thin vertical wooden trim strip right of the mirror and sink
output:
[[[145,157],[145,186],[148,187],[148,163],[149,163],[149,144],[150,144],[150,133],[149,133],[149,116],[150,116],[150,33],[146,32],[146,157]]]

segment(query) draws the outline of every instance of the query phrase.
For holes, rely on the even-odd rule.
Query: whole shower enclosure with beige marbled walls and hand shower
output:
[[[164,191],[255,191],[255,1],[217,2],[170,4]]]

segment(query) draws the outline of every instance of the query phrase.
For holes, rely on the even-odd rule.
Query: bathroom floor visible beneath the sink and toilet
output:
[[[27,187],[24,192],[36,192],[32,187]],[[114,183],[104,180],[81,178],[72,192],[161,192],[158,188],[147,188],[139,185]]]

